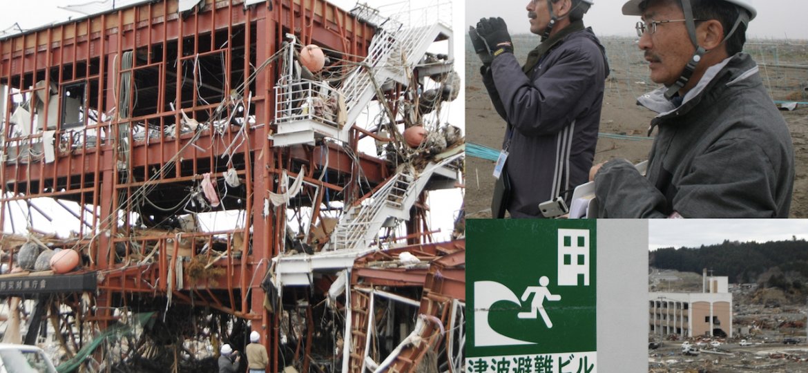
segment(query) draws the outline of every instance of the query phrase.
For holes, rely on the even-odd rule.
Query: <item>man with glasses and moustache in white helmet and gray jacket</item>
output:
[[[592,168],[601,217],[789,216],[793,146],[743,53],[748,0],[630,0],[650,78],[638,98],[659,113],[646,177],[617,159]]]

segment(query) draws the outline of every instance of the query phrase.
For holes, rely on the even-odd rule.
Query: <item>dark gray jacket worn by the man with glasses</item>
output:
[[[794,153],[789,128],[745,53],[710,67],[680,107],[664,88],[638,98],[660,113],[646,178],[625,160],[595,175],[601,217],[789,216]]]

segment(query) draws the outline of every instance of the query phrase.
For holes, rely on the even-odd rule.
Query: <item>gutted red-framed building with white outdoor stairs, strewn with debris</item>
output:
[[[86,371],[207,369],[250,330],[267,371],[462,371],[461,206],[436,242],[427,200],[462,183],[451,9],[133,1],[2,37],[4,338]]]

